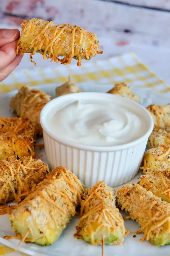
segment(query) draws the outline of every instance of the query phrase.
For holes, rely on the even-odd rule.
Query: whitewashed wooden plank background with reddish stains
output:
[[[104,53],[92,60],[134,51],[170,84],[170,0],[0,0],[1,27],[19,28],[23,19],[33,17],[95,32]],[[37,65],[45,66],[40,57]],[[26,54],[21,63],[17,69],[34,68]]]

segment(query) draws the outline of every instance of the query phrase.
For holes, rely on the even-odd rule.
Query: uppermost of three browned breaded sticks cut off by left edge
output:
[[[6,132],[16,134],[25,133],[26,135],[33,137],[35,133],[35,125],[33,125],[32,122],[26,117],[0,117],[0,134]]]

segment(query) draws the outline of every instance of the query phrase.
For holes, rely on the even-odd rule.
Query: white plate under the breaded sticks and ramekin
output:
[[[112,85],[107,84],[95,84],[91,82],[79,84],[82,90],[84,91],[99,91],[106,92],[112,88]],[[55,97],[55,87],[56,84],[42,85],[35,88],[46,92],[49,95]],[[167,104],[169,103],[169,97],[161,95],[156,91],[151,89],[132,89],[139,97],[142,98],[141,104],[145,107],[149,104]],[[12,117],[12,110],[9,107],[9,102],[12,96],[16,94],[17,91],[12,91],[6,94],[0,94],[0,116]],[[38,141],[39,143],[43,142],[43,139]],[[45,151],[44,149],[36,148],[36,154],[44,155],[41,159],[46,163]],[[138,178],[140,177],[141,172],[139,172],[136,177],[131,181],[137,183]],[[119,187],[116,187],[117,190]],[[121,212],[123,216],[126,216],[124,212]],[[10,222],[7,220],[8,215],[0,216],[0,243],[5,244],[11,248],[16,248],[19,240],[3,239],[6,235],[14,235],[10,227]],[[61,236],[58,240],[51,246],[41,247],[31,243],[22,243],[19,248],[19,251],[35,255],[35,256],[99,256],[101,255],[101,246],[92,246],[86,243],[83,240],[77,240],[73,237],[75,233],[75,227],[78,223],[79,216],[75,216],[67,227],[63,230]],[[125,220],[125,227],[130,231],[137,231],[139,229],[138,224],[133,220]],[[169,246],[163,246],[161,248],[156,248],[151,245],[148,241],[139,241],[142,238],[143,234],[136,235],[133,237],[133,234],[129,234],[125,237],[125,242],[121,246],[105,246],[105,256],[169,256]]]

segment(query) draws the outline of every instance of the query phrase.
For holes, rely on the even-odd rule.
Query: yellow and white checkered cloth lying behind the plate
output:
[[[165,93],[170,88],[143,65],[134,53],[124,54],[107,60],[86,61],[81,67],[56,64],[55,68],[38,68],[14,71],[0,83],[0,93],[9,92],[23,85],[63,83],[71,75],[75,83],[97,81],[103,84],[125,82],[129,86],[154,87]]]

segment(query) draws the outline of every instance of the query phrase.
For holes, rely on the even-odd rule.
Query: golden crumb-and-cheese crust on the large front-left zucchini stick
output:
[[[57,167],[38,184],[35,192],[19,204],[9,220],[16,220],[25,211],[29,211],[33,222],[38,225],[40,237],[45,236],[50,229],[57,233],[59,227],[64,229],[75,215],[75,208],[81,203],[84,190],[77,176],[64,167]],[[33,222],[26,222],[27,228],[32,230],[33,226],[29,225],[33,225]],[[30,238],[29,235],[27,238]]]

